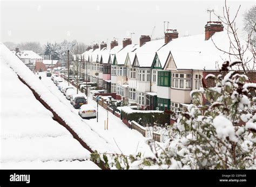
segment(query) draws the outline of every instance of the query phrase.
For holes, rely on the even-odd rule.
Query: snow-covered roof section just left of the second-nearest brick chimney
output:
[[[152,40],[145,42],[145,44],[139,47],[135,53],[139,62],[139,67],[151,67],[156,52],[165,45],[165,40]],[[134,62],[131,61],[131,63]]]

